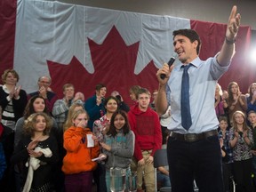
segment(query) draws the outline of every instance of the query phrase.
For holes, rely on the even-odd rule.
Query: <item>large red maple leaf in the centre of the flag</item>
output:
[[[89,74],[79,60],[74,56],[68,65],[47,60],[52,77],[52,90],[63,97],[63,84],[74,84],[76,92],[84,92],[85,99],[92,96],[96,84],[107,86],[107,96],[118,91],[124,101],[132,104],[129,98],[129,89],[138,84],[148,88],[150,92],[157,88],[156,70],[153,61],[150,61],[139,75],[134,74],[139,42],[127,46],[122,36],[114,26],[102,44],[96,44],[88,39],[92,54],[94,73]]]

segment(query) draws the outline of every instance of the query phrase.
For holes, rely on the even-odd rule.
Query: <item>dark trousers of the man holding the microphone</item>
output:
[[[193,180],[200,192],[223,192],[218,136],[195,142],[169,137],[167,156],[172,192],[194,191]]]

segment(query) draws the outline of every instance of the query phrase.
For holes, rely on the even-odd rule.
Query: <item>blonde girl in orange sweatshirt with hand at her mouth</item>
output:
[[[86,128],[89,116],[84,109],[73,113],[73,126],[64,132],[64,148],[67,154],[63,159],[62,171],[65,173],[66,192],[92,191],[92,171],[97,163],[92,159],[100,153],[97,143],[88,147],[88,138],[92,136],[90,128]],[[92,138],[92,137],[91,137]]]

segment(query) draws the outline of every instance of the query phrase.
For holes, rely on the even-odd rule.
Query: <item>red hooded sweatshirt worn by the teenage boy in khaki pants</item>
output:
[[[143,158],[141,150],[152,149],[151,156],[154,156],[157,149],[162,145],[162,131],[159,116],[148,108],[143,112],[136,104],[128,112],[129,123],[135,134],[134,157],[140,161]]]

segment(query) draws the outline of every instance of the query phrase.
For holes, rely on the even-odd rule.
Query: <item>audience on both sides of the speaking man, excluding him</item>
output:
[[[127,178],[131,172],[137,172],[138,191],[155,190],[153,156],[157,149],[166,148],[166,137],[170,134],[167,126],[172,121],[171,106],[163,116],[155,112],[157,90],[150,93],[139,85],[132,86],[129,92],[134,104],[128,107],[116,91],[105,98],[107,87],[104,84],[97,84],[95,95],[87,100],[81,96],[83,93],[75,94],[73,84],[65,84],[61,100],[52,90],[28,94],[28,99],[22,99],[25,103],[19,105],[23,114],[19,116],[14,103],[24,97],[25,91],[20,93],[17,88],[16,93],[10,86],[17,84],[17,76],[13,69],[7,69],[2,76],[1,188],[5,191],[90,188],[91,191],[94,183],[97,191],[110,191],[110,168],[120,167],[125,169]],[[48,83],[44,88],[44,84],[39,85],[42,79],[44,84]],[[48,76],[38,79],[39,90],[47,90],[50,84]],[[52,104],[47,95],[55,98]],[[252,175],[256,176],[256,84],[252,83],[245,94],[240,92],[236,82],[230,82],[227,91],[217,84],[212,100],[215,100],[215,113],[220,122],[225,191],[229,189],[231,176],[236,180],[237,191],[252,191],[255,184]],[[90,119],[94,119],[91,126]],[[93,135],[92,147],[87,146],[90,134]],[[52,155],[46,156],[46,152],[37,148],[49,148]],[[35,170],[30,167],[32,157],[40,164]],[[93,162],[96,157],[100,158]],[[31,170],[33,180],[29,181]],[[40,180],[42,175],[45,180]],[[157,178],[158,187],[171,186],[168,168],[159,167]],[[9,185],[11,180],[15,185]]]

